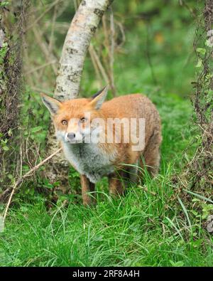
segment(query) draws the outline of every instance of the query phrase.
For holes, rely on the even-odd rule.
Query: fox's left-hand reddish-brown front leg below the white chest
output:
[[[85,206],[92,205],[94,203],[94,194],[89,194],[89,192],[94,191],[94,184],[87,179],[87,176],[81,175],[81,186],[82,186],[82,200]]]

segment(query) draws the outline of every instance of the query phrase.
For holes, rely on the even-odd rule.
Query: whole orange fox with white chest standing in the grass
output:
[[[106,101],[108,88],[65,101],[40,93],[64,156],[80,174],[84,205],[94,203],[91,193],[104,176],[111,196],[121,196],[124,182],[137,183],[145,166],[153,177],[160,165],[161,121],[153,102],[141,93]]]

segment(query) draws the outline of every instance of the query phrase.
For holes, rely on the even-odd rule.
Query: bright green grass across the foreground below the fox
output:
[[[130,189],[94,208],[70,204],[47,213],[42,202],[23,204],[1,234],[1,265],[212,266],[207,233],[190,236],[187,220],[167,205],[166,176],[164,183],[151,184],[158,196]]]

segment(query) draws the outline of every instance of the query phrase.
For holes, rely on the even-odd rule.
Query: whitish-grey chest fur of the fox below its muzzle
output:
[[[107,154],[98,144],[69,144],[63,142],[66,159],[75,166],[80,174],[87,176],[89,181],[96,183],[103,176],[114,171],[112,161],[115,154]]]

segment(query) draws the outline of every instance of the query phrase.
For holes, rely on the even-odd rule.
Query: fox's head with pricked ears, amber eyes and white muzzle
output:
[[[92,120],[102,117],[100,108],[107,96],[106,86],[92,98],[80,98],[60,102],[53,97],[41,93],[45,107],[55,125],[56,136],[59,140],[70,144],[84,142],[92,134],[99,134],[100,126]]]

